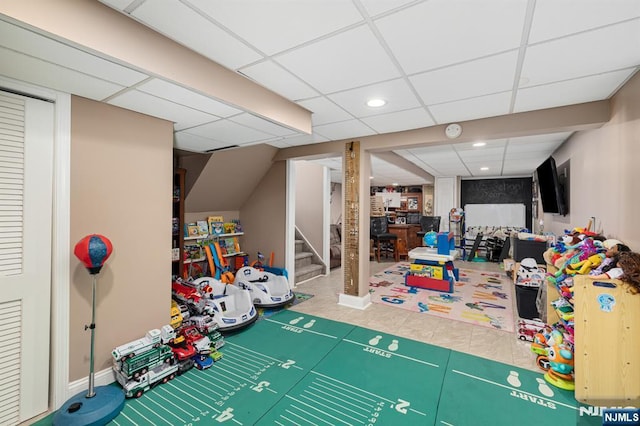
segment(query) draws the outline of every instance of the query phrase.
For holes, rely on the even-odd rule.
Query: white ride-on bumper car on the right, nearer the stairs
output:
[[[243,266],[236,271],[233,285],[251,293],[254,305],[273,308],[293,302],[295,295],[284,275],[276,275],[253,266]]]

